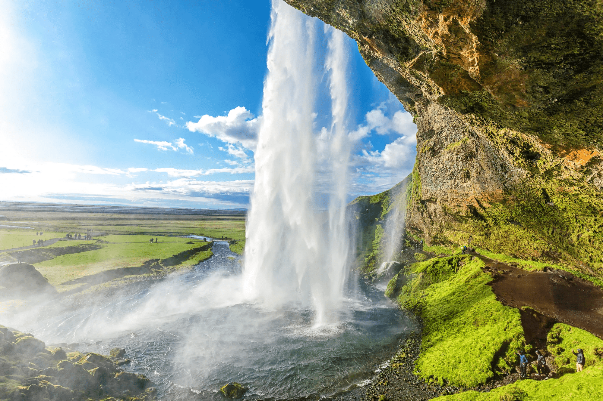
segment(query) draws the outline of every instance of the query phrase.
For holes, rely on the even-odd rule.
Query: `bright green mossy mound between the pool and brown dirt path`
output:
[[[497,302],[484,264],[469,255],[433,258],[405,269],[417,275],[397,296],[423,322],[416,373],[440,384],[474,387],[510,370],[523,346],[519,311]]]

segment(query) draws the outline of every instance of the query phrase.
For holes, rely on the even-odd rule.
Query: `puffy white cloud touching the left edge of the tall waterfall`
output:
[[[201,132],[233,145],[241,143],[252,151],[256,147],[260,117],[254,118],[244,107],[235,107],[226,116],[213,117],[205,114],[195,118],[199,118],[198,122],[186,123],[186,128],[191,132]]]

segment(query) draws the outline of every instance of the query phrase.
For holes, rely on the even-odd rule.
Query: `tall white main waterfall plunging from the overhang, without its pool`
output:
[[[268,306],[299,303],[315,325],[336,322],[350,238],[346,229],[347,52],[327,27],[327,57],[316,72],[322,37],[314,19],[273,0],[256,178],[247,220],[244,294]],[[318,79],[329,78],[329,128],[317,132]],[[316,206],[327,193],[326,211]]]

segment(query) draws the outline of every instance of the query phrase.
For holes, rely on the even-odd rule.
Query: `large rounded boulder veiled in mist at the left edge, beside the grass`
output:
[[[46,281],[42,273],[28,263],[13,263],[0,269],[0,282],[3,293],[8,296],[32,297],[40,295],[56,295],[52,285]]]

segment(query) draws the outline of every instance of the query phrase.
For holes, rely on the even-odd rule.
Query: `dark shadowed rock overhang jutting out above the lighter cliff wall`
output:
[[[411,113],[425,98],[534,134],[558,152],[601,149],[600,1],[286,2],[356,39]]]

